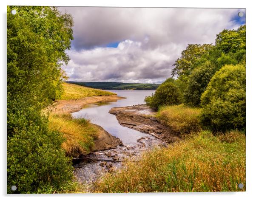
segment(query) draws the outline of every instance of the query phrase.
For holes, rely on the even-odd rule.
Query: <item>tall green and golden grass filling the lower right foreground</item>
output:
[[[245,134],[187,135],[168,148],[145,152],[139,162],[128,161],[125,169],[106,175],[95,188],[95,192],[245,191]]]

